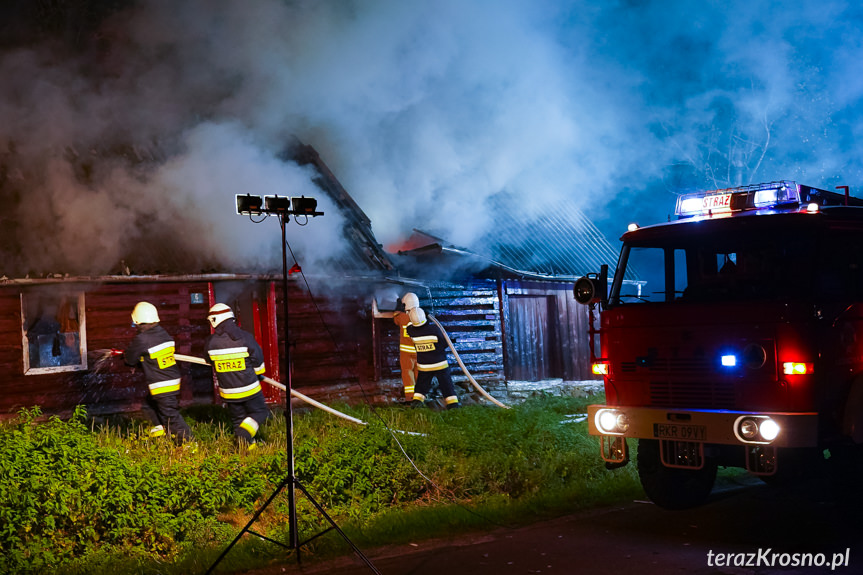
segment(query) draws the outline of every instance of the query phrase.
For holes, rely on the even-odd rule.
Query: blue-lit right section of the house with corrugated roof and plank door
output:
[[[469,370],[491,389],[597,380],[588,309],[575,302],[573,287],[579,277],[615,262],[616,251],[571,202],[547,206],[529,221],[500,206],[494,221],[494,230],[470,247],[414,230],[397,265],[424,278],[421,303],[455,335],[456,348],[474,367]],[[454,369],[453,376],[460,374]]]

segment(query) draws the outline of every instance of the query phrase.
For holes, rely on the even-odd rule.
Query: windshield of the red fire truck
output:
[[[817,246],[803,237],[728,238],[624,245],[619,267],[644,282],[639,290],[619,280],[612,305],[673,301],[763,300],[812,294],[807,286],[819,271]]]

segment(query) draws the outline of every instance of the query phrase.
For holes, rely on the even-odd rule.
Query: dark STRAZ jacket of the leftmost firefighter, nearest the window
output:
[[[157,323],[142,325],[123,354],[127,365],[141,365],[152,395],[180,393],[180,366],[174,359],[174,338]]]

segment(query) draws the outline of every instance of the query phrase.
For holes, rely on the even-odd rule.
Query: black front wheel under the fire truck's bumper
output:
[[[697,470],[665,467],[659,440],[638,440],[638,478],[651,501],[664,509],[689,509],[707,500],[716,480],[716,462],[710,458]]]

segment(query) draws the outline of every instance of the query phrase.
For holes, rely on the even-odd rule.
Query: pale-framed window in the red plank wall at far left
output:
[[[21,294],[24,374],[87,369],[82,292]]]

